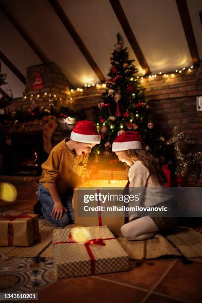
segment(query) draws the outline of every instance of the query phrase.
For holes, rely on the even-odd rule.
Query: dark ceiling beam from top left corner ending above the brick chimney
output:
[[[4,15],[8,18],[8,20],[12,23],[12,25],[16,28],[16,30],[20,33],[20,35],[24,38],[27,44],[31,47],[31,49],[36,53],[36,55],[41,59],[44,64],[49,64],[50,61],[46,57],[46,55],[40,50],[25,28],[19,23],[19,21],[14,17],[13,13],[6,6],[6,4],[0,1],[0,9],[4,13]]]

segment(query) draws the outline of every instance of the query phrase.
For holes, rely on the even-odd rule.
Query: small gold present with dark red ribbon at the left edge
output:
[[[30,246],[38,239],[40,233],[37,214],[0,216],[0,246]]]

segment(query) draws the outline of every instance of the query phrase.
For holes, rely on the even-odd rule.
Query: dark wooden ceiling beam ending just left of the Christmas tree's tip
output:
[[[82,54],[84,55],[84,57],[86,58],[86,60],[88,61],[88,63],[92,67],[92,69],[94,70],[97,77],[100,79],[101,82],[105,82],[106,79],[105,79],[104,75],[102,74],[101,69],[99,68],[99,66],[95,62],[95,60],[92,57],[90,51],[87,49],[86,45],[84,44],[81,37],[79,36],[77,31],[75,30],[73,24],[71,23],[71,21],[67,17],[66,13],[64,12],[64,10],[61,7],[61,5],[59,4],[59,2],[57,0],[49,0],[49,2],[50,2],[50,5],[52,6],[53,10],[55,11],[57,16],[59,17],[60,21],[63,23],[64,27],[66,28],[66,30],[69,32],[70,36],[72,37],[72,39],[76,43],[77,47],[82,52]]]

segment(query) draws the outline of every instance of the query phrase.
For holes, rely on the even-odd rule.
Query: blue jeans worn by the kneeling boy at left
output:
[[[50,196],[49,190],[44,188],[41,182],[39,182],[39,187],[36,194],[39,198],[39,201],[42,203],[42,212],[44,217],[52,224],[55,226],[64,227],[68,224],[74,223],[74,209],[72,207],[73,190],[70,190],[66,195],[60,196],[62,204],[67,209],[67,213],[63,211],[62,218],[58,220],[51,217],[54,202]]]

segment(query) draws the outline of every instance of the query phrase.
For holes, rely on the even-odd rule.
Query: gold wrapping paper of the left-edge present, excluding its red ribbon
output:
[[[12,220],[12,246],[30,246],[35,238],[40,237],[38,215],[27,213],[34,218],[36,233],[33,230],[31,218],[16,218]],[[8,214],[9,216],[9,214]],[[0,246],[8,245],[8,218],[0,218]]]

